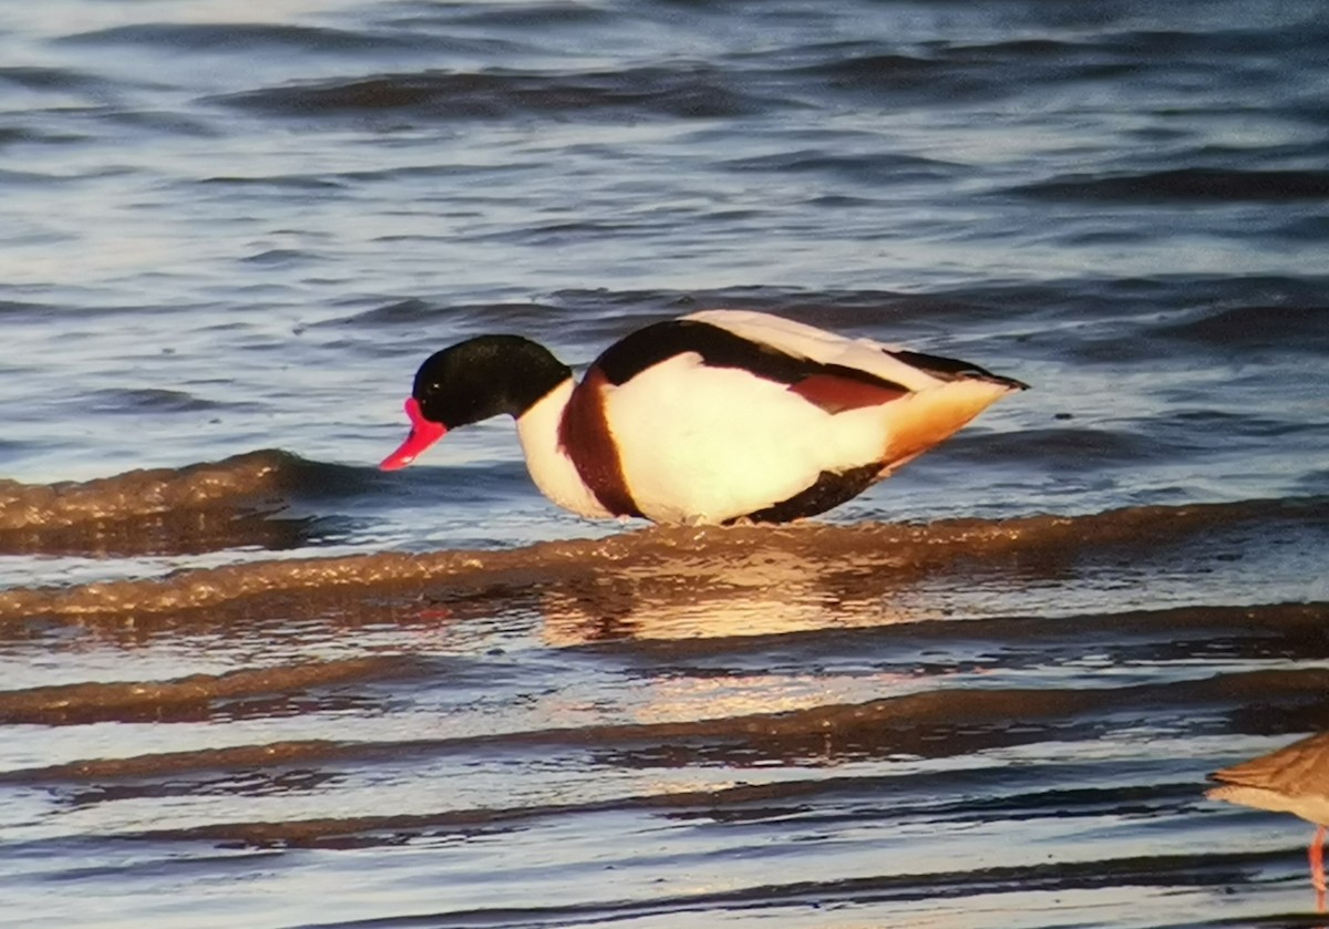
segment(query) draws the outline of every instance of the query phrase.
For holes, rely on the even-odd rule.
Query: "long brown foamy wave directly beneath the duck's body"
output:
[[[205,500],[227,500],[239,488],[268,488],[271,461],[258,456],[231,468],[202,469],[186,477]],[[298,472],[299,468],[296,466]],[[211,474],[213,480],[202,480]],[[140,480],[129,477],[130,482]],[[173,486],[157,474],[154,486]],[[96,482],[94,482],[96,484]],[[121,497],[117,489],[116,498]],[[96,508],[94,508],[96,509]],[[29,517],[31,518],[31,508]],[[1131,552],[1135,558],[1251,530],[1271,538],[1294,532],[1322,536],[1329,508],[1322,497],[1251,500],[1185,506],[1134,506],[1086,516],[1025,516],[1007,520],[957,518],[930,524],[787,526],[651,526],[606,538],[538,542],[508,550],[388,552],[335,558],[292,558],[179,571],[159,579],[108,581],[74,587],[16,587],[0,591],[0,623],[32,617],[97,617],[134,613],[141,619],[255,597],[299,594],[338,598],[347,593],[421,595],[445,589],[470,597],[496,586],[533,593],[590,593],[607,609],[614,590],[627,602],[641,598],[691,601],[698,579],[711,590],[762,589],[791,583],[817,586],[819,578],[876,579],[946,570],[957,564],[1006,564],[1019,556],[1022,570],[1039,561],[1059,566],[1094,553]],[[1308,540],[1310,544],[1310,540]],[[626,585],[626,586],[622,586]],[[619,589],[622,587],[622,589]],[[841,591],[843,593],[843,591]],[[773,594],[772,594],[773,595]],[[813,593],[809,589],[809,597]],[[878,594],[880,595],[880,594]],[[613,611],[613,610],[611,610]]]

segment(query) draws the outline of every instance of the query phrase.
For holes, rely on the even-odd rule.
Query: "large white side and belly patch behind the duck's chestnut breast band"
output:
[[[609,388],[605,413],[627,490],[657,522],[767,510],[824,472],[878,463],[885,448],[880,411],[832,416],[784,384],[686,355]]]

